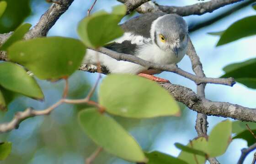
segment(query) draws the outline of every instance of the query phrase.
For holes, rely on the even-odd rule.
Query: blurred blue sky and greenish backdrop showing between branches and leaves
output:
[[[205,0],[208,1],[208,0]],[[204,2],[205,2],[204,1]],[[161,5],[192,5],[198,3],[197,0],[156,0]],[[57,21],[49,31],[48,36],[68,36],[78,38],[76,26],[78,22],[87,15],[87,10],[93,3],[93,0],[75,0],[72,5]],[[116,0],[98,0],[91,13],[97,10],[111,11],[113,5],[120,4]],[[47,10],[49,4],[45,1],[34,0],[31,3],[32,15],[25,22],[34,26],[40,16]],[[188,25],[209,19],[212,16],[228,9],[230,5],[223,7],[213,13],[202,16],[185,16],[184,19]],[[220,77],[224,74],[222,68],[234,62],[242,62],[256,55],[255,43],[256,36],[246,37],[239,41],[234,41],[224,46],[215,47],[219,37],[208,35],[208,32],[222,31],[229,27],[236,20],[245,16],[256,15],[256,11],[248,7],[236,11],[211,26],[206,26],[190,34],[198,56],[203,63],[203,70],[207,77]],[[124,21],[124,20],[123,20]],[[190,60],[185,56],[178,66],[192,72]],[[252,70],[254,71],[254,70]],[[176,75],[171,72],[162,72],[159,77],[170,80],[174,84],[183,85],[196,91],[194,82]],[[88,91],[88,87],[95,83],[97,74],[88,72],[76,72],[70,78],[71,97],[83,97]],[[56,102],[62,94],[63,82],[50,83],[38,80],[45,94],[45,102],[37,102],[29,98],[19,97],[10,105],[10,110],[2,116],[2,120],[10,120],[13,113],[22,110],[28,106],[36,109],[43,109]],[[82,92],[84,91],[84,92]],[[82,93],[81,93],[82,92]],[[216,84],[207,84],[205,89],[206,98],[212,101],[221,101],[239,104],[245,107],[255,108],[256,90],[245,87],[242,84],[235,84],[234,87],[228,87]],[[96,96],[95,96],[96,98]],[[96,145],[91,142],[85,134],[80,133],[80,128],[76,122],[76,108],[72,105],[63,105],[53,111],[50,116],[31,118],[21,123],[19,129],[8,134],[3,134],[0,138],[5,138],[13,142],[12,159],[8,157],[3,164],[9,164],[11,161],[19,160],[21,163],[29,164],[82,164],[86,156],[96,149]],[[80,108],[80,107],[79,107]],[[174,143],[187,144],[189,139],[197,136],[195,126],[196,112],[188,108],[182,109],[182,117],[165,117],[154,119],[123,119],[117,121],[129,130],[138,140],[139,144],[145,150],[159,150],[161,152],[177,156],[180,153]],[[214,125],[226,118],[208,117],[208,132]],[[75,130],[70,134],[69,130]],[[58,131],[59,130],[59,131]],[[69,136],[69,137],[66,137]],[[79,137],[78,137],[79,136]],[[43,140],[43,141],[42,141]],[[72,149],[69,144],[73,143]],[[85,145],[85,146],[80,146]],[[240,149],[246,148],[247,143],[241,139],[235,139],[229,145],[227,152],[218,157],[222,164],[235,164],[240,157]],[[69,149],[70,148],[70,149]],[[22,158],[21,158],[22,156]],[[253,153],[245,159],[245,164],[251,163]],[[95,164],[128,164],[121,159],[117,159],[105,152],[101,153],[96,159]]]

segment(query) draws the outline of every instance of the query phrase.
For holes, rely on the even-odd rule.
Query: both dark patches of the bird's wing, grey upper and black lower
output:
[[[152,22],[162,15],[165,15],[165,13],[155,12],[142,14],[126,21],[120,26],[125,32],[131,32],[134,35],[150,38],[150,28]],[[105,47],[112,51],[117,51],[129,55],[135,55],[136,49],[139,48],[138,45],[132,44],[131,41],[123,41],[122,43],[113,42],[107,44]]]

